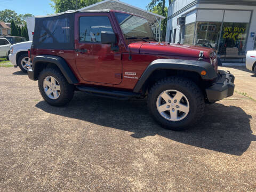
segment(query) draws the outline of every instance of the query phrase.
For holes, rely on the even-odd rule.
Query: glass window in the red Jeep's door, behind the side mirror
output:
[[[101,42],[101,31],[113,31],[107,16],[86,16],[79,18],[79,41]]]

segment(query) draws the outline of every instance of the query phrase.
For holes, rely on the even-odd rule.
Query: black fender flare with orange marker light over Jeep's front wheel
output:
[[[157,59],[151,62],[150,65],[146,68],[144,73],[139,78],[139,81],[135,85],[133,92],[139,93],[149,76],[157,69],[193,71],[198,73],[201,78],[205,80],[211,80],[217,77],[215,69],[209,62],[181,59]],[[206,75],[201,75],[203,70],[206,71]]]

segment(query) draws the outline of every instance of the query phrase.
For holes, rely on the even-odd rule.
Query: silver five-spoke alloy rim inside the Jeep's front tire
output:
[[[185,94],[177,90],[166,90],[156,100],[159,114],[169,121],[181,121],[189,113],[189,102]]]

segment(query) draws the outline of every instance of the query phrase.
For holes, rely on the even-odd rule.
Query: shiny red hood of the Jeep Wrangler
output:
[[[207,47],[173,44],[167,42],[135,42],[129,44],[129,47],[133,53],[173,55],[196,58],[198,58],[198,55],[201,51],[204,52],[204,58],[210,58],[210,53],[213,52],[213,49]]]

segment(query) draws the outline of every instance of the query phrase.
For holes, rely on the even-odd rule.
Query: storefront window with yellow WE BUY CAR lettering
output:
[[[220,38],[220,55],[244,55],[249,23],[224,22]]]

